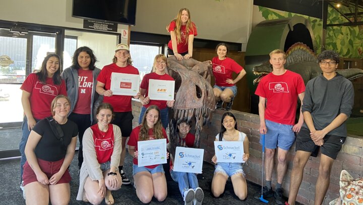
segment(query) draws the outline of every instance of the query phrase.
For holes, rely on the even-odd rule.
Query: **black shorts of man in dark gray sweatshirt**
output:
[[[296,137],[295,150],[311,152],[311,156],[316,157],[318,155],[319,148],[321,147],[322,154],[332,159],[336,159],[344,142],[345,137],[336,135],[325,135],[323,146],[317,146],[310,137],[310,130],[301,127],[301,130]]]

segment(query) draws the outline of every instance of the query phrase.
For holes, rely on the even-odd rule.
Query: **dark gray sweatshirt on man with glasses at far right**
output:
[[[354,89],[348,79],[337,73],[327,80],[321,74],[307,83],[301,111],[311,113],[315,129],[322,130],[341,113],[349,118],[353,104]],[[309,129],[306,123],[303,126]],[[345,122],[328,135],[346,137]]]

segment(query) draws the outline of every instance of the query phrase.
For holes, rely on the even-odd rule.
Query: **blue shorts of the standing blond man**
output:
[[[268,149],[289,150],[295,142],[295,133],[292,131],[292,125],[284,125],[265,120],[267,133],[265,134],[265,147]],[[262,145],[262,136],[260,136]]]

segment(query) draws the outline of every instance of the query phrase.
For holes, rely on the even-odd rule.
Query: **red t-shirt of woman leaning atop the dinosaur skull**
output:
[[[174,31],[175,30],[175,27],[176,27],[176,23],[175,21],[171,21],[170,22],[170,27],[169,27],[169,32],[171,31]],[[189,30],[189,33],[187,33],[186,31],[186,25],[182,25],[180,27],[180,38],[181,38],[181,42],[180,43],[177,43],[177,38],[175,39],[176,40],[176,48],[178,49],[178,53],[185,53],[185,52],[188,52],[188,42],[187,42],[187,36],[189,35],[194,35],[194,36],[197,36],[198,33],[197,33],[197,27],[196,25],[192,22],[192,27],[193,29],[192,30]],[[169,41],[168,43],[168,47],[172,50],[172,43],[171,43],[171,40]]]

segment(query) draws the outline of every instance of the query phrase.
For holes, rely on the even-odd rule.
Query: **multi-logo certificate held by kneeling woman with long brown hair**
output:
[[[166,163],[166,139],[138,142],[138,166]]]

